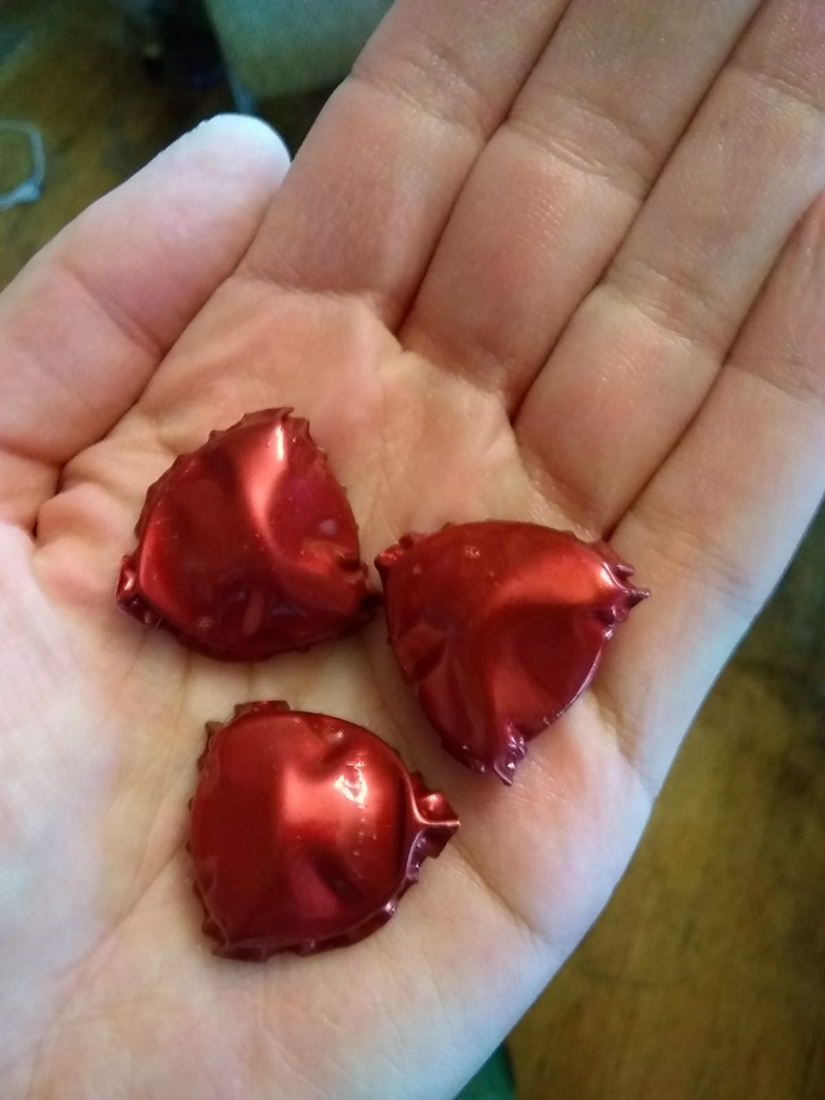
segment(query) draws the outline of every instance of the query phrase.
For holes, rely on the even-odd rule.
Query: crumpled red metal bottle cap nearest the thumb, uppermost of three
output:
[[[213,431],[146,494],[117,598],[210,656],[258,660],[369,617],[366,566],[341,485],[288,409]]]

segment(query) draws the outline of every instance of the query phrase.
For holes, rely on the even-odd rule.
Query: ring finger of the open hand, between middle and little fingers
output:
[[[670,452],[825,186],[824,74],[818,0],[768,4],[525,400],[520,442],[583,527],[609,530]]]

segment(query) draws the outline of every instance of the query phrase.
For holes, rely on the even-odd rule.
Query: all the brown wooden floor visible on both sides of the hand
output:
[[[0,0],[0,105],[48,154],[41,201],[0,213],[2,286],[229,97],[148,79],[103,0]],[[268,113],[297,138],[311,109]],[[0,188],[13,170],[0,152]],[[825,516],[705,705],[610,905],[510,1047],[521,1100],[825,1098]]]

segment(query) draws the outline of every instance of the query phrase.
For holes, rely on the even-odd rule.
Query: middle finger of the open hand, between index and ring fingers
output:
[[[459,199],[407,345],[515,408],[755,7],[573,3]]]

